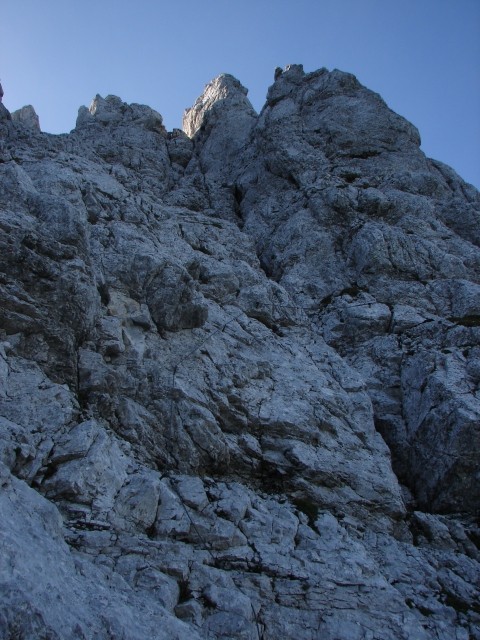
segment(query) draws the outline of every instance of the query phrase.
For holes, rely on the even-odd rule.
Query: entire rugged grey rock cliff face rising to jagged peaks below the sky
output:
[[[480,638],[480,195],[349,74],[246,94],[0,105],[2,638]]]

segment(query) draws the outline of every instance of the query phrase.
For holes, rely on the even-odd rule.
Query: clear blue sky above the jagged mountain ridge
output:
[[[354,73],[480,187],[480,0],[2,0],[3,102],[33,104],[51,133],[96,93],[179,127],[223,72],[259,110],[289,63]]]

